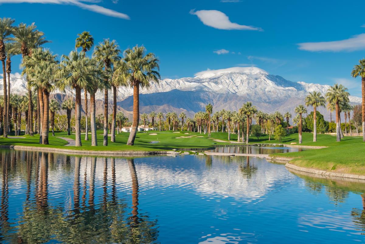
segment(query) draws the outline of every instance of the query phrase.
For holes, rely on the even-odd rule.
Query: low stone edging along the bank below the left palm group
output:
[[[47,148],[38,146],[14,146],[14,145],[0,145],[0,148],[12,148],[20,150],[37,150],[41,152],[57,152],[66,154],[82,154],[95,156],[133,156],[133,155],[178,155],[175,151],[82,151],[61,148]]]

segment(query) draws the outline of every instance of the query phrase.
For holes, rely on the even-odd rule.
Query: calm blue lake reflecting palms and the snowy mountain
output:
[[[260,147],[229,150],[297,150]],[[365,242],[365,184],[256,157],[0,150],[0,165],[0,243]]]

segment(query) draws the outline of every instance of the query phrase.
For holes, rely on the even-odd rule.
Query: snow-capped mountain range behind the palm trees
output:
[[[207,103],[212,103],[214,110],[237,110],[247,101],[265,112],[286,112],[303,104],[308,92],[319,91],[324,95],[329,87],[292,82],[257,67],[206,70],[196,73],[195,77],[164,79],[158,84],[153,83],[149,89],[141,89],[141,113],[184,111],[191,116],[204,110]],[[26,93],[26,81],[19,73],[11,75],[11,91]],[[127,111],[132,110],[132,92],[131,88],[118,89],[118,105]],[[72,91],[67,90],[66,94],[71,95]],[[98,92],[96,99],[103,98],[104,92]],[[361,103],[361,98],[350,96],[350,102]]]

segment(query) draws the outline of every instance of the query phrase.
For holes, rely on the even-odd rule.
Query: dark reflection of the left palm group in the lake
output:
[[[115,159],[91,157],[90,164],[90,158],[78,156],[14,150],[0,152],[1,243],[157,243],[157,221],[150,220],[146,213],[143,216],[138,213],[138,178],[133,160],[128,160],[133,196],[131,208],[126,199],[117,194]],[[55,165],[54,160],[61,165]],[[102,190],[96,191],[99,163],[103,166]],[[111,175],[108,166],[111,166]],[[66,171],[61,174],[66,179],[58,178],[60,168]],[[13,182],[14,206],[9,204],[9,176]],[[26,184],[24,198],[21,194],[23,182]],[[69,186],[72,198],[67,194]],[[9,207],[13,211],[13,223],[9,222]]]

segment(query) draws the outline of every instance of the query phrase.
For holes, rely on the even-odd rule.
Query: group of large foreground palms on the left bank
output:
[[[22,54],[22,74],[27,77],[28,85],[28,118],[26,133],[32,136],[32,91],[37,92],[37,111],[39,118],[40,143],[49,144],[49,95],[55,89],[65,91],[71,88],[75,91],[75,132],[76,146],[81,146],[81,91],[85,94],[85,114],[88,117],[87,99],[90,94],[91,105],[91,141],[97,145],[95,123],[95,94],[104,90],[104,140],[103,145],[108,145],[108,91],[113,91],[113,113],[111,141],[115,141],[116,125],[116,91],[119,86],[132,87],[133,92],[133,123],[127,145],[133,145],[139,123],[139,88],[148,88],[151,82],[159,82],[159,60],[153,53],[146,53],[143,46],[126,49],[123,57],[116,41],[104,39],[95,46],[92,57],[87,57],[87,52],[92,49],[94,39],[89,32],[84,31],[76,39],[76,49],[81,47],[81,52],[72,51],[68,56],[62,55],[61,60],[48,49],[41,48],[47,43],[44,34],[36,29],[34,24],[19,24],[13,26],[11,18],[0,19],[0,60],[4,73],[4,101],[9,100],[9,84],[6,84],[5,60],[10,64],[10,58],[15,54]],[[5,44],[10,46],[5,50]],[[10,54],[12,53],[12,54]],[[8,73],[8,83],[9,74]],[[8,89],[7,89],[8,88]],[[69,104],[71,105],[71,104]],[[71,106],[68,106],[69,110]],[[9,102],[3,108],[4,137],[9,131]],[[68,114],[68,121],[70,112]],[[70,126],[68,126],[70,128]],[[88,131],[88,129],[86,130]],[[88,140],[88,133],[85,133]]]

